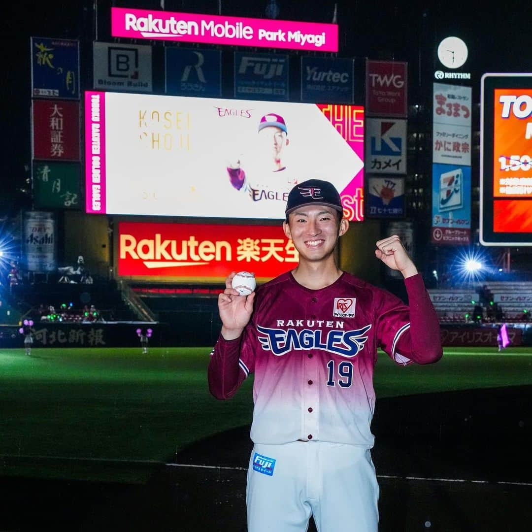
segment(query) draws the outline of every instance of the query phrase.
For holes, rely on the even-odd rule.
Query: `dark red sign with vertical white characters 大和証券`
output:
[[[79,103],[32,102],[33,158],[79,161]]]

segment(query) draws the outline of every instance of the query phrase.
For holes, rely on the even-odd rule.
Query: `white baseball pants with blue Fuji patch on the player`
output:
[[[255,444],[248,532],[376,532],[379,486],[369,449],[329,442]]]

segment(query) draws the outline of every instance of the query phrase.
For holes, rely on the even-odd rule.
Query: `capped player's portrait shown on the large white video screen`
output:
[[[297,183],[284,163],[289,143],[284,118],[276,113],[265,114],[257,129],[256,151],[237,155],[228,161],[231,186],[254,202],[286,202],[288,192]],[[253,161],[246,160],[246,156],[252,156]]]

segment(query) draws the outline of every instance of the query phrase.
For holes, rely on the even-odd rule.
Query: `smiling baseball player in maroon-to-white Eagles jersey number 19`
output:
[[[231,273],[208,370],[219,399],[255,373],[248,530],[305,531],[312,514],[319,532],[376,531],[377,347],[400,365],[438,361],[437,315],[397,236],[379,240],[375,255],[402,273],[409,305],[338,268],[334,251],[348,221],[329,182],[296,185],[283,228],[300,262],[249,296],[231,288]]]

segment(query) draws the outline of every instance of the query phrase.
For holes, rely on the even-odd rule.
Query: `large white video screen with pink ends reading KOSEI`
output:
[[[360,106],[86,92],[86,211],[282,219],[318,178],[362,220],[363,141]]]

